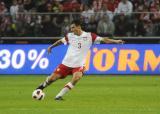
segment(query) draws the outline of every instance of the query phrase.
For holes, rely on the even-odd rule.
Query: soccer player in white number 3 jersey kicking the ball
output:
[[[109,38],[102,38],[94,33],[85,32],[81,28],[81,23],[75,20],[71,23],[71,33],[68,33],[64,38],[56,41],[51,46],[48,47],[48,53],[51,53],[52,48],[58,46],[62,43],[68,44],[68,50],[66,55],[55,71],[46,78],[46,80],[36,89],[43,90],[51,83],[58,79],[63,79],[67,75],[72,74],[73,77],[70,82],[68,82],[64,88],[56,95],[55,100],[63,100],[63,95],[71,90],[76,83],[82,78],[84,72],[84,63],[86,55],[90,47],[94,42],[104,42],[104,43],[116,43],[122,44],[122,40],[113,40]]]

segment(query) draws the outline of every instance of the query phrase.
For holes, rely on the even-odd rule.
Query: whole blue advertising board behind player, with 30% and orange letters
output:
[[[50,74],[67,46],[47,53],[49,45],[0,45],[0,74]],[[160,45],[101,44],[88,52],[85,74],[160,74]]]

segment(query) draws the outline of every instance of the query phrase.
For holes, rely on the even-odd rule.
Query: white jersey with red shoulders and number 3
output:
[[[80,36],[74,33],[68,33],[66,37],[62,39],[64,44],[67,43],[69,45],[62,64],[71,68],[84,66],[91,45],[101,40],[101,37],[90,32],[83,31]]]

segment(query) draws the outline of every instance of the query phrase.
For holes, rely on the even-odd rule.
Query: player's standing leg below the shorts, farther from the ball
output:
[[[69,90],[71,90],[76,83],[82,78],[83,72],[74,72],[73,78],[68,82],[64,88],[56,95],[55,100],[63,100],[62,96],[65,95]]]

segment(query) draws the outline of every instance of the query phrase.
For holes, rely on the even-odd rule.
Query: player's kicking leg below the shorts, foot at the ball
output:
[[[55,82],[57,79],[59,79],[61,77],[60,74],[57,73],[52,73],[50,76],[48,76],[46,78],[46,80],[40,84],[36,89],[41,89],[43,90],[44,88],[46,88],[47,86],[49,86],[51,83]]]

